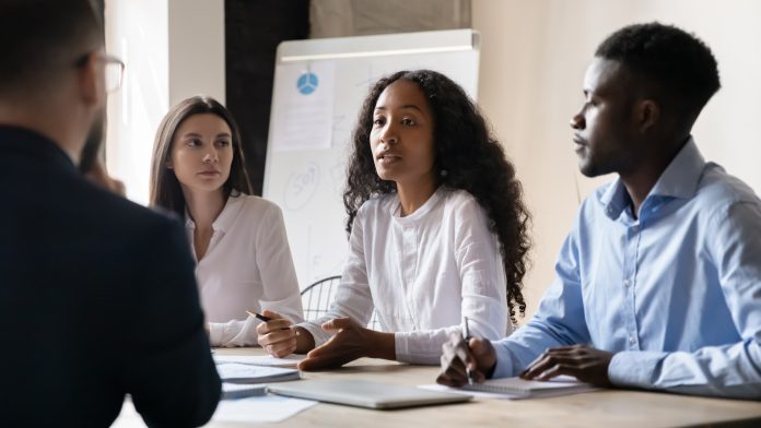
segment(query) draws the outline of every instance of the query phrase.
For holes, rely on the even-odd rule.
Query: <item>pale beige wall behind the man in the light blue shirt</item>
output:
[[[553,278],[557,251],[584,198],[611,177],[577,173],[569,120],[597,45],[619,27],[657,20],[694,32],[718,60],[723,88],[693,135],[715,160],[761,191],[761,1],[473,0],[481,32],[479,104],[524,182],[534,213],[527,314]]]

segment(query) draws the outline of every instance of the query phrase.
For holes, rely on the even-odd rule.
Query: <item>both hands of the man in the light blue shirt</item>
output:
[[[520,372],[526,380],[550,380],[561,374],[572,376],[582,382],[611,387],[608,366],[613,354],[586,345],[562,346],[545,350]],[[444,344],[442,371],[437,383],[461,387],[468,383],[466,367],[473,372],[476,382],[490,378],[496,367],[496,352],[491,342],[472,337],[467,343],[459,334],[453,334]]]

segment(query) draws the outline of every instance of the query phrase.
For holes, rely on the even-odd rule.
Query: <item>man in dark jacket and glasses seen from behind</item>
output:
[[[176,219],[77,169],[105,103],[86,0],[0,0],[0,425],[108,426],[126,394],[151,426],[220,399]]]

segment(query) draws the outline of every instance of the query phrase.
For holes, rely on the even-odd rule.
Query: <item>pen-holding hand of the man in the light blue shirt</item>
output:
[[[476,382],[483,382],[496,366],[496,352],[491,342],[483,337],[471,337],[465,343],[459,333],[453,333],[442,350],[442,371],[436,383],[449,387],[468,383],[466,367],[473,373]]]

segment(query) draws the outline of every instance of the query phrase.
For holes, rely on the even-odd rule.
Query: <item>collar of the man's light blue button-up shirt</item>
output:
[[[643,206],[652,199],[692,198],[698,191],[698,183],[704,168],[705,159],[690,136],[653,186],[643,201]],[[606,215],[611,219],[618,218],[629,206],[630,197],[620,177],[600,195],[599,201],[605,206]]]

